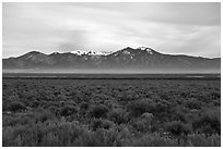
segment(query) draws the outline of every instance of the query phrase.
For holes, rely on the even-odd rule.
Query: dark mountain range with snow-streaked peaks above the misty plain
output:
[[[132,70],[143,72],[221,72],[221,59],[164,54],[151,48],[127,47],[115,52],[31,51],[17,58],[2,60],[3,70]]]

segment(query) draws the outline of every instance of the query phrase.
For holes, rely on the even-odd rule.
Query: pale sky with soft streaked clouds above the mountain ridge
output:
[[[126,47],[221,57],[221,3],[3,2],[3,58]]]

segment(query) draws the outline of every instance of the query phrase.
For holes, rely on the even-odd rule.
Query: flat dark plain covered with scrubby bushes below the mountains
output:
[[[3,74],[2,146],[221,146],[219,74]]]

